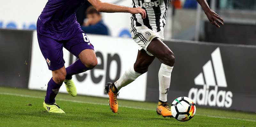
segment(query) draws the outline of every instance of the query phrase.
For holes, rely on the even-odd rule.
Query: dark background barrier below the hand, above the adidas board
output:
[[[239,23],[239,20],[235,21],[225,22],[225,25],[218,29],[206,20],[204,22],[205,41],[256,45],[255,20],[253,20],[253,23],[243,23],[241,21]]]

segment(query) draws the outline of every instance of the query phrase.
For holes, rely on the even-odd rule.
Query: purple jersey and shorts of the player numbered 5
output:
[[[63,47],[78,58],[82,50],[92,49],[88,37],[76,21],[76,11],[85,0],[49,0],[37,20],[37,38],[49,70],[65,64]]]

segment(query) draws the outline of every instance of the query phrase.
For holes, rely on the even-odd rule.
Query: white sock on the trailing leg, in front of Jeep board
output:
[[[130,84],[140,75],[140,73],[135,72],[134,65],[132,65],[114,84],[119,91],[122,87]]]

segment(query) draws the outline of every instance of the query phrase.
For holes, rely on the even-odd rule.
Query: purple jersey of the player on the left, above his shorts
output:
[[[79,25],[75,13],[84,2],[85,0],[48,0],[39,19],[54,31],[68,30]]]

